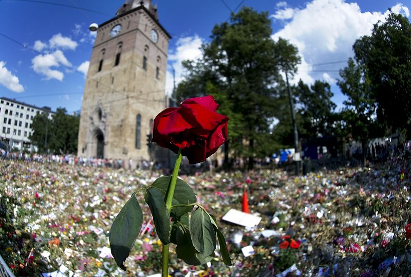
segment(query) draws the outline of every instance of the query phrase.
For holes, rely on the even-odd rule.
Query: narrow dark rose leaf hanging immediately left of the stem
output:
[[[150,188],[146,190],[146,196],[144,198],[153,215],[154,226],[156,226],[158,238],[163,244],[169,244],[171,222],[169,211],[167,211],[167,208],[165,207],[163,195],[159,190]]]

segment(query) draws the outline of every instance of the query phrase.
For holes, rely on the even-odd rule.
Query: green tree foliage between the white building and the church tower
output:
[[[79,123],[80,116],[67,115],[65,108],[58,108],[51,119],[47,119],[46,113],[37,114],[33,118],[33,133],[29,139],[39,147],[39,152],[76,153]]]

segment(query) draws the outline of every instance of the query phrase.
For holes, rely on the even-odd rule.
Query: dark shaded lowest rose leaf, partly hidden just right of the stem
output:
[[[204,256],[198,253],[193,246],[189,229],[180,225],[176,230],[177,257],[189,265],[203,265],[213,260],[213,256]]]

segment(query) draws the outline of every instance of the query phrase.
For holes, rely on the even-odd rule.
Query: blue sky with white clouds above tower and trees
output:
[[[41,1],[39,1],[41,2]],[[15,98],[53,110],[79,110],[87,61],[94,35],[93,23],[115,16],[124,0],[30,0],[0,1],[0,96]],[[173,39],[169,47],[169,70],[182,79],[181,61],[201,57],[198,47],[207,43],[215,24],[229,19],[239,4],[268,11],[272,38],[290,40],[300,50],[302,64],[294,81],[316,79],[331,83],[334,102],[341,107],[344,96],[335,85],[338,70],[352,56],[352,43],[369,34],[372,24],[383,20],[387,8],[409,16],[411,0],[357,2],[343,0],[154,0],[159,20]],[[227,4],[227,6],[226,6]],[[6,38],[5,36],[8,38]],[[33,50],[35,49],[35,50]],[[166,90],[172,86],[167,75]]]

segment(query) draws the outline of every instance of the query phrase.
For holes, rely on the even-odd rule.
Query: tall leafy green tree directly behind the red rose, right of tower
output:
[[[202,46],[203,58],[185,62],[186,80],[179,84],[177,98],[198,96],[196,91],[210,93],[230,117],[228,149],[248,159],[253,167],[255,157],[272,154],[267,145],[272,139],[270,128],[275,115],[280,72],[295,72],[300,58],[297,49],[285,40],[271,39],[271,22],[267,12],[242,8],[231,15],[230,23],[216,25],[211,42]],[[221,111],[222,112],[222,111]]]

